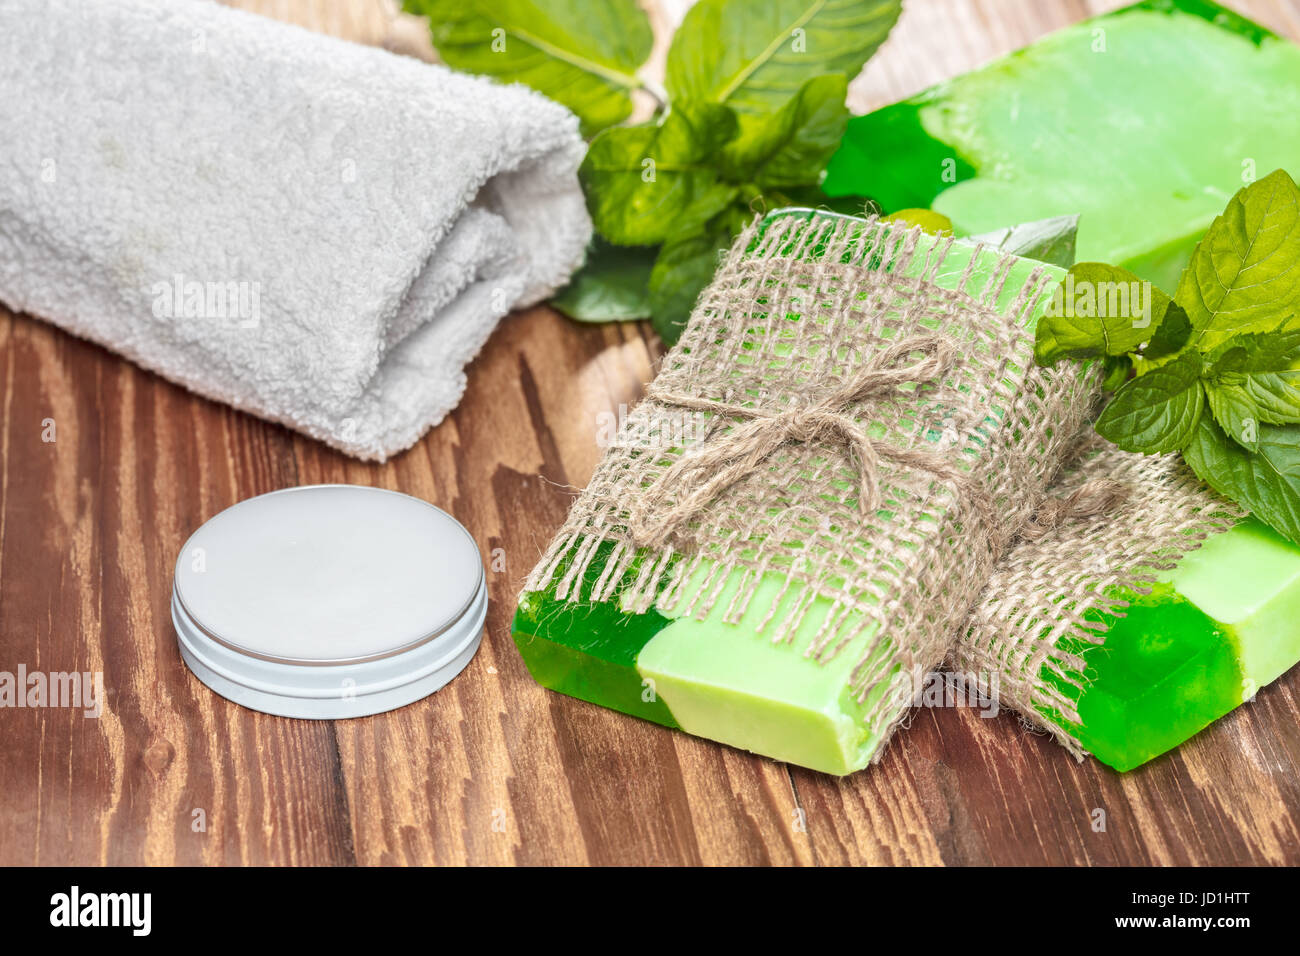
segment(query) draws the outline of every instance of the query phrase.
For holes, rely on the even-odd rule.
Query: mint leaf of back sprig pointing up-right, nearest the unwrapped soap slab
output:
[[[723,151],[723,176],[760,189],[816,185],[849,124],[848,81],[812,77],[775,113],[755,117]]]

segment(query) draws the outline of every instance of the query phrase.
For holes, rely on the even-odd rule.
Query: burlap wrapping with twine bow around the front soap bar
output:
[[[789,641],[819,606],[802,653],[857,654],[883,741],[1095,394],[1074,364],[1035,367],[1024,326],[1056,281],[1009,287],[1015,261],[879,220],[751,225],[525,591],[702,618],[738,571],[736,622],[781,575],[760,631]]]

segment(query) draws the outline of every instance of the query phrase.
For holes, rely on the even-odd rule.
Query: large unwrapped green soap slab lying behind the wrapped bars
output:
[[[1205,0],[1138,4],[849,122],[826,191],[958,235],[1079,213],[1078,259],[1173,291],[1245,177],[1300,170],[1300,47]]]

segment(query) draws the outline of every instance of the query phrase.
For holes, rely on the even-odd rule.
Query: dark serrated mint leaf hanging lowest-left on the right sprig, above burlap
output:
[[[1097,432],[1124,451],[1176,451],[1205,407],[1200,371],[1200,356],[1187,354],[1126,382],[1097,419]]]

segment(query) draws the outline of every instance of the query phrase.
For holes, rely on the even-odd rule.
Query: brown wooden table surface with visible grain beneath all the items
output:
[[[386,0],[244,5],[426,47]],[[910,0],[855,105],[1113,5]],[[1300,1],[1236,5],[1300,38]],[[0,710],[0,862],[1300,862],[1300,669],[1126,775],[1010,714],[957,708],[919,710],[878,766],[836,779],[534,684],[510,639],[514,596],[595,466],[598,414],[636,402],[659,354],[644,324],[512,315],[460,407],[373,466],[0,311],[0,670],[99,670],[108,688],[99,719]],[[173,561],[229,505],[326,481],[432,501],[504,561],[482,649],[389,714],[235,706],[181,662]]]

